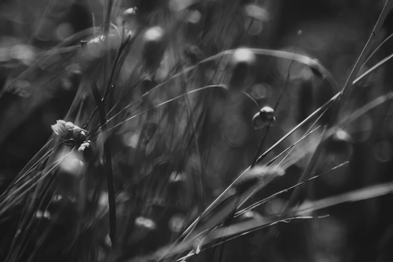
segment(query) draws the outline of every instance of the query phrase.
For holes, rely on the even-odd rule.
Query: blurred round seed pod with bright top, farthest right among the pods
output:
[[[326,154],[329,158],[339,158],[344,161],[352,155],[352,138],[343,129],[338,128],[326,142]]]

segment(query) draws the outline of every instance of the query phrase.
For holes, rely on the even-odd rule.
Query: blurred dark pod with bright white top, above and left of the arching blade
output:
[[[144,36],[144,47],[142,56],[145,68],[153,73],[154,69],[160,64],[165,51],[165,36],[161,27],[149,28]]]

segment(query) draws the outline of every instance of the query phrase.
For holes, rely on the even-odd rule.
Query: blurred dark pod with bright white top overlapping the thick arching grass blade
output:
[[[230,91],[239,92],[245,88],[245,80],[255,62],[255,54],[248,49],[239,48],[233,53],[230,61],[232,72],[228,84]]]

